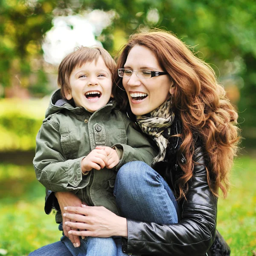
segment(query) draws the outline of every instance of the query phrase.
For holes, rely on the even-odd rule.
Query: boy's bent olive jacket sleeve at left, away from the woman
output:
[[[61,192],[87,186],[90,174],[82,176],[83,158],[67,160],[61,148],[58,128],[49,120],[43,123],[36,137],[33,165],[37,179],[47,189]]]

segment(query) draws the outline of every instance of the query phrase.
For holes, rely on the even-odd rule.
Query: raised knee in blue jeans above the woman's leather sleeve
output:
[[[179,207],[172,190],[144,162],[129,162],[119,169],[114,195],[122,217],[158,224],[178,222]]]

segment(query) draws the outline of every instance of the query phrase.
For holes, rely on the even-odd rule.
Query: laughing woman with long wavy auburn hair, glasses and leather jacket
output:
[[[117,64],[113,93],[123,110],[129,102],[135,115],[128,110],[129,116],[158,145],[157,172],[142,162],[119,169],[114,194],[123,217],[104,207],[63,209],[71,203],[57,193],[64,218],[81,222],[65,225],[86,230],[68,235],[122,236],[125,253],[228,255],[215,236],[217,198],[219,188],[227,195],[239,129],[223,87],[211,67],[168,32],[132,35]],[[175,224],[168,210],[173,194],[179,204]],[[222,254],[209,250],[212,243],[223,246]]]

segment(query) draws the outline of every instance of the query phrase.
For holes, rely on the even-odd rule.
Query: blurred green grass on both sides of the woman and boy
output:
[[[255,166],[256,159],[237,159],[232,190],[218,203],[217,228],[233,256],[256,251]],[[54,216],[44,213],[44,187],[35,180],[32,166],[0,165],[0,212],[0,255],[28,255],[61,236]]]

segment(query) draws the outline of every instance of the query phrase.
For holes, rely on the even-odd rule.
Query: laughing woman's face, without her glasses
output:
[[[124,68],[129,70],[165,71],[158,64],[153,52],[140,45],[135,45],[131,49]],[[145,79],[139,78],[136,72],[133,72],[130,77],[123,78],[122,83],[128,95],[131,111],[135,115],[143,115],[153,111],[171,96],[172,80],[169,75]]]

